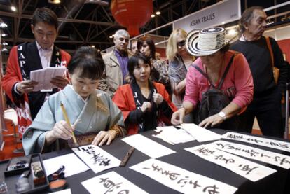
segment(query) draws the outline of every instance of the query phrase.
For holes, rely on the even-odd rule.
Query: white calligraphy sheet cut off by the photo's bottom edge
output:
[[[95,176],[92,179],[81,182],[81,184],[89,193],[147,193],[116,172]]]

